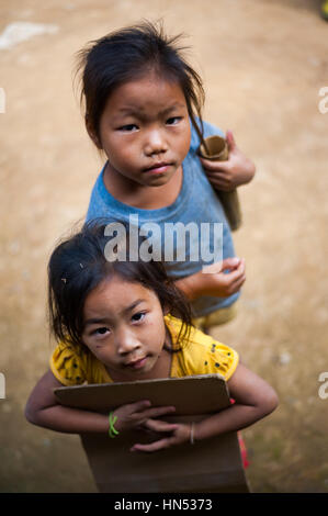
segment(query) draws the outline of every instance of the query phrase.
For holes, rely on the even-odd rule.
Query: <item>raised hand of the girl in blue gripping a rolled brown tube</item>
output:
[[[255,176],[255,164],[237,147],[231,131],[227,131],[226,141],[229,158],[226,161],[211,161],[200,158],[211,184],[216,190],[229,192],[240,184],[246,184]]]

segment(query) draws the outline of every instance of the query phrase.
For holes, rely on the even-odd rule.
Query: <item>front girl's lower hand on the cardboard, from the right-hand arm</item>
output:
[[[163,437],[162,439],[156,440],[150,445],[136,444],[131,448],[131,451],[159,451],[166,448],[170,448],[171,446],[182,445],[182,442],[190,441],[191,425],[173,424],[166,423],[162,420],[148,419],[145,423],[144,427],[158,434],[163,433],[170,435]]]

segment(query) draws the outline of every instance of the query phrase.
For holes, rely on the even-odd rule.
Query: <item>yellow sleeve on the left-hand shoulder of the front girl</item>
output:
[[[59,343],[49,360],[50,370],[64,385],[78,385],[87,380],[83,352],[72,345]]]

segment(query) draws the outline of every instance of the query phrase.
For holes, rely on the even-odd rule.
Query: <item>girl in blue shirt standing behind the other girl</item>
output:
[[[161,229],[168,223],[185,228],[190,223],[199,228],[222,223],[215,273],[203,273],[204,260],[191,257],[201,235],[195,237],[199,242],[183,243],[185,258],[166,260],[169,277],[191,300],[195,321],[208,328],[222,313],[227,319],[234,312],[246,279],[245,261],[235,256],[215,189],[228,191],[249,182],[255,167],[230,132],[227,161],[197,156],[203,138],[222,132],[202,121],[202,80],[182,51],[179,36],[169,38],[162,27],[146,22],[111,33],[80,52],[86,126],[106,156],[87,221],[113,216],[128,222],[133,214],[139,226],[151,223]],[[214,238],[211,234],[208,248],[216,244]],[[176,251],[179,245],[176,242]]]

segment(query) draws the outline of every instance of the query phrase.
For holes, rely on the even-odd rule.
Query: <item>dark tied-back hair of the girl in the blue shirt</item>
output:
[[[77,75],[81,79],[81,104],[84,99],[86,123],[101,144],[100,119],[114,89],[150,70],[177,81],[185,97],[189,116],[203,143],[202,109],[204,89],[199,74],[186,63],[179,46],[182,34],[168,37],[145,21],[92,41],[78,53]],[[200,124],[197,124],[199,117]]]

